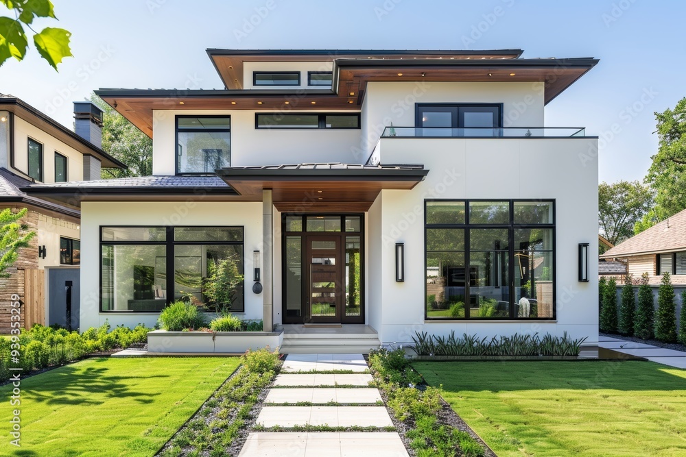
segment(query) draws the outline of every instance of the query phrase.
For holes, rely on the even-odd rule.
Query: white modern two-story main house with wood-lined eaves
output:
[[[598,60],[207,53],[225,89],[96,91],[154,139],[152,177],[29,188],[82,211],[82,328],[205,301],[227,260],[283,350],[309,323],[597,341],[598,138],[543,119]]]

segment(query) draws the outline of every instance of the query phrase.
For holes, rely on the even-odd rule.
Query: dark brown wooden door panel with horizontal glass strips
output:
[[[305,316],[311,322],[340,322],[343,314],[340,237],[307,236]],[[309,313],[307,308],[309,307]]]

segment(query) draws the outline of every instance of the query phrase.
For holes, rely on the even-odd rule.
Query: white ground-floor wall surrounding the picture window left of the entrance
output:
[[[241,319],[262,318],[262,295],[252,293],[252,251],[261,250],[262,203],[203,201],[104,202],[84,201],[81,219],[81,329],[137,323],[152,326],[158,313],[99,312],[99,227],[101,225],[199,225],[244,227],[245,312]]]

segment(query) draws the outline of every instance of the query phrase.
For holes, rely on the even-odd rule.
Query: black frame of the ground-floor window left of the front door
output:
[[[164,241],[141,241],[141,240],[103,240],[102,230],[104,228],[158,228],[165,229],[165,240]],[[188,241],[188,240],[174,240],[174,229],[177,228],[221,228],[221,229],[240,229],[241,230],[241,240],[240,241]],[[243,259],[241,262],[241,275],[243,275],[243,287],[241,287],[242,303],[243,308],[241,310],[231,309],[231,312],[245,312],[246,310],[246,277],[245,277],[245,258],[246,258],[246,228],[244,225],[99,225],[98,227],[98,238],[99,238],[99,284],[98,284],[98,301],[99,301],[99,312],[102,313],[113,313],[113,314],[127,314],[127,313],[145,313],[145,314],[159,314],[160,311],[136,311],[136,310],[103,310],[102,309],[102,247],[103,246],[115,246],[115,245],[152,245],[152,246],[165,246],[165,259],[166,259],[166,285],[167,285],[167,297],[165,299],[165,308],[169,306],[174,299],[174,293],[169,293],[168,291],[174,291],[174,247],[176,245],[240,245],[243,247]],[[171,259],[171,260],[170,260]],[[169,287],[169,278],[172,278],[171,288]]]

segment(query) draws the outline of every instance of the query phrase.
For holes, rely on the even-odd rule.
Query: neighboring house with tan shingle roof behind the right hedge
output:
[[[665,272],[672,274],[672,284],[686,284],[686,210],[632,236],[600,256],[627,265],[634,281],[643,273],[650,284],[660,284]]]

